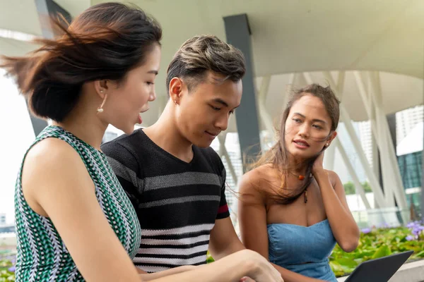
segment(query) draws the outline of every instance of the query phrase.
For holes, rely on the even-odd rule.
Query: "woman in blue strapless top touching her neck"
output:
[[[336,281],[329,255],[351,252],[359,229],[324,150],[336,137],[339,102],[330,87],[308,85],[290,97],[276,145],[240,182],[242,241],[269,259],[285,281]]]

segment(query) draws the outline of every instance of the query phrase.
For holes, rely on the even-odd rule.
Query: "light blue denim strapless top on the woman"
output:
[[[270,262],[298,274],[337,282],[328,259],[336,239],[327,219],[308,227],[268,224],[268,240]]]

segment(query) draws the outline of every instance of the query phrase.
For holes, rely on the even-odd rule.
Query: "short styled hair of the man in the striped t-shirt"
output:
[[[172,78],[182,78],[189,91],[204,82],[208,71],[238,82],[246,73],[242,51],[213,35],[199,35],[188,39],[174,55],[167,68],[166,87]]]

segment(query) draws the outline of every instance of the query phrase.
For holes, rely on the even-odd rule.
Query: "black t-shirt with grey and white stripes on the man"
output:
[[[186,163],[141,129],[105,143],[102,151],[139,216],[134,264],[147,272],[205,264],[216,219],[230,215],[218,154],[193,146],[194,158]]]

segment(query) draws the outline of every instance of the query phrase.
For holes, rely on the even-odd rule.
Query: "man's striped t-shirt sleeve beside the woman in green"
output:
[[[126,195],[134,207],[139,206],[139,199],[143,193],[143,180],[140,178],[139,161],[129,149],[119,142],[111,141],[102,145],[102,152],[124,188]]]

